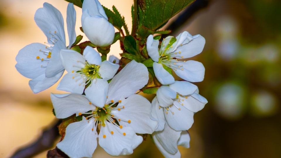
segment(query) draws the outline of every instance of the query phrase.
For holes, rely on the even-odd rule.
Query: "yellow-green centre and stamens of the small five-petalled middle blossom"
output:
[[[102,78],[101,74],[99,73],[99,65],[92,65],[89,64],[88,61],[82,62],[82,61],[77,61],[78,63],[82,63],[84,67],[78,66],[78,65],[73,65],[73,67],[78,67],[81,68],[79,71],[72,71],[72,73],[75,73],[75,75],[72,77],[72,79],[75,79],[77,82],[81,78],[83,81],[79,83],[79,85],[87,85],[90,84],[89,86],[92,86],[92,83],[94,79],[96,78]]]

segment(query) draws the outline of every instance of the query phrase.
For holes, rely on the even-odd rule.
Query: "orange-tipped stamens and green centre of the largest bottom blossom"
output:
[[[120,129],[123,128],[123,126],[119,125],[120,121],[125,121],[128,123],[131,123],[131,120],[123,120],[118,118],[117,116],[114,116],[111,112],[114,110],[118,110],[120,111],[121,109],[124,109],[125,107],[117,107],[118,103],[121,103],[121,100],[119,100],[117,103],[115,103],[113,100],[111,100],[108,104],[105,104],[103,108],[99,108],[96,107],[96,109],[89,111],[89,112],[85,112],[85,113],[79,113],[79,115],[86,115],[86,119],[88,120],[88,122],[90,122],[90,120],[94,119],[94,123],[92,126],[92,131],[94,130],[94,127],[97,126],[103,126],[103,127],[107,127],[108,131],[110,131],[110,133],[113,135],[114,132],[112,130],[110,130],[108,123],[112,123],[114,128],[117,129],[118,132],[119,129],[117,127],[119,127]],[[89,104],[92,104],[91,102]],[[103,135],[103,138],[106,138],[106,135],[104,134],[104,128],[101,128],[101,132]],[[120,132],[121,133],[121,132]],[[126,135],[126,133],[121,133],[124,136]]]

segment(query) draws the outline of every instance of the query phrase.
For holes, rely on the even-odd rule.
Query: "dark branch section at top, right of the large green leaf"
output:
[[[206,8],[210,4],[211,0],[196,0],[192,4],[190,4],[186,10],[175,20],[172,24],[170,24],[166,30],[172,30],[173,32],[179,29],[182,25],[186,23],[196,12],[201,9]],[[169,36],[162,35],[161,40]],[[160,40],[160,41],[161,41]]]

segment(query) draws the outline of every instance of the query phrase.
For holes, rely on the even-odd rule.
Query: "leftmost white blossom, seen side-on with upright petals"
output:
[[[64,73],[61,65],[60,50],[69,49],[76,40],[76,11],[73,4],[67,7],[67,30],[69,46],[66,48],[64,19],[55,7],[44,3],[34,16],[38,27],[47,36],[45,44],[32,43],[25,46],[16,56],[16,69],[20,74],[31,78],[29,86],[34,93],[41,92],[54,85]]]

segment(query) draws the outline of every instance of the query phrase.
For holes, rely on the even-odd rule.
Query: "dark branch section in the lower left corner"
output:
[[[18,149],[10,158],[30,158],[40,154],[44,150],[50,149],[57,138],[59,138],[59,129],[57,126],[61,120],[56,120],[55,123],[43,130],[42,135],[33,143]]]

